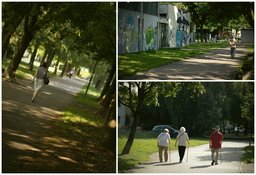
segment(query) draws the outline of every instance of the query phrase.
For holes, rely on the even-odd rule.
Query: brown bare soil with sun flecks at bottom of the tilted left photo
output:
[[[83,104],[76,106],[97,110]],[[104,135],[100,128],[87,128],[86,138],[78,142],[72,130],[60,134],[56,123],[36,143],[15,173],[116,173],[116,155],[97,147]],[[99,131],[97,136],[90,134],[95,130]]]

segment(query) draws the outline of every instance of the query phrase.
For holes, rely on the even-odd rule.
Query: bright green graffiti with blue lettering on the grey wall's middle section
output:
[[[151,25],[144,30],[143,34],[143,45],[144,50],[148,50],[148,48],[156,49],[156,37],[157,37],[157,27],[153,28]]]

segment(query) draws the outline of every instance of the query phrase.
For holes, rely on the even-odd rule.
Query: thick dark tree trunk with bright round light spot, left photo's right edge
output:
[[[113,98],[113,106],[116,106],[116,96]],[[104,136],[98,146],[105,148],[111,153],[116,152],[116,107],[113,107],[109,116],[108,125],[104,131]]]

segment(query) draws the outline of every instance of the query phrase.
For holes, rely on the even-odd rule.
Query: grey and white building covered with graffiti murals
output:
[[[189,45],[189,11],[157,2],[118,2],[118,53]]]

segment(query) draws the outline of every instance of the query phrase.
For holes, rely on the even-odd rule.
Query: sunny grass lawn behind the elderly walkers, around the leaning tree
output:
[[[157,137],[159,134],[152,132],[136,132],[129,155],[121,155],[126,144],[129,131],[118,129],[118,173],[129,170],[133,166],[150,160],[149,155],[158,152]],[[171,138],[171,150],[178,149],[174,147],[176,138]],[[189,137],[189,147],[195,147],[209,143],[209,139],[202,137]]]

